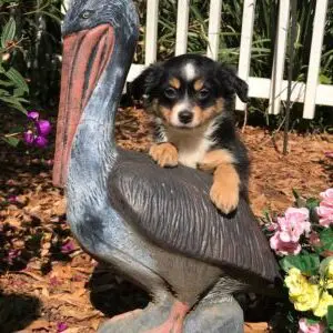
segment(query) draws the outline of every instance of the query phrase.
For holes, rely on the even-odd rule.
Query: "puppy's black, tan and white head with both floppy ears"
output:
[[[143,97],[165,124],[184,129],[229,114],[235,93],[248,101],[248,84],[234,70],[196,54],[149,67],[131,83],[130,92],[137,100]]]

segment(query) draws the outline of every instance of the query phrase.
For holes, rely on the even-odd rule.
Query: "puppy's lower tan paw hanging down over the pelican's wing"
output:
[[[234,211],[239,204],[239,185],[214,181],[210,196],[212,202],[221,212],[229,214]]]

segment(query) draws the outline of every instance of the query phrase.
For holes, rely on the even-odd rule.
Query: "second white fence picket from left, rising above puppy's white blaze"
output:
[[[184,54],[188,51],[189,13],[190,0],[178,0],[175,56]]]

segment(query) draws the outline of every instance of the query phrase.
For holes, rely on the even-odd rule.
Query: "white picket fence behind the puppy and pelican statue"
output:
[[[70,0],[69,0],[70,1]],[[68,1],[68,2],[69,2]],[[226,0],[224,0],[226,1]],[[250,77],[251,47],[255,0],[244,0],[242,18],[242,36],[240,44],[239,77],[249,83],[251,98],[269,99],[269,112],[278,114],[281,101],[286,100],[287,81],[283,80],[285,63],[286,38],[290,22],[290,2],[280,0],[279,21],[276,27],[276,43],[271,78]],[[309,62],[307,81],[292,82],[292,102],[304,103],[303,118],[312,119],[315,105],[333,107],[333,85],[319,84],[321,50],[329,0],[316,0],[315,16],[312,30],[312,46]],[[178,0],[175,56],[186,53],[190,0]],[[221,33],[222,0],[210,1],[206,56],[218,59]],[[159,0],[147,0],[145,23],[145,61],[144,64],[132,64],[128,81],[132,81],[147,65],[157,61],[158,47]],[[311,32],[309,32],[311,34]],[[310,38],[310,36],[309,36]],[[245,105],[239,99],[236,109],[244,110]]]

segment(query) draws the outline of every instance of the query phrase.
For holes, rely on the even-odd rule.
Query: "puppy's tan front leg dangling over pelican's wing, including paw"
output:
[[[208,152],[199,164],[201,170],[214,173],[210,196],[225,214],[235,210],[239,204],[241,181],[233,162],[235,160],[231,152],[219,149]]]

